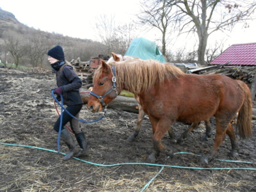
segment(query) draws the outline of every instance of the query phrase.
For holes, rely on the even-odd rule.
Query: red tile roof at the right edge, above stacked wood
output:
[[[211,61],[211,65],[256,65],[256,43],[231,45],[218,57]]]

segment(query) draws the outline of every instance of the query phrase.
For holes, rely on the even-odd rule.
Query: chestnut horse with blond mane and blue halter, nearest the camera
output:
[[[160,152],[172,156],[161,140],[175,121],[200,122],[216,118],[216,136],[212,150],[202,157],[202,163],[212,159],[228,134],[232,155],[238,155],[234,129],[230,122],[237,117],[241,138],[252,136],[252,100],[250,89],[227,76],[184,74],[179,68],[154,60],[131,60],[105,63],[93,77],[93,90],[88,109],[101,111],[122,90],[140,97],[143,111],[152,125],[154,150],[148,159],[154,162]]]

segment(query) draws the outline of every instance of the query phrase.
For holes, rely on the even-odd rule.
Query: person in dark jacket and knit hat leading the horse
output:
[[[52,70],[56,74],[56,83],[58,88],[54,89],[54,94],[63,96],[63,104],[67,105],[67,111],[76,118],[79,118],[79,112],[83,107],[83,100],[79,93],[79,88],[82,86],[81,79],[76,74],[75,69],[65,60],[63,49],[60,45],[53,47],[47,53],[49,55],[48,61],[51,63]],[[60,117],[54,124],[56,132],[60,129]],[[77,143],[80,149],[76,147],[76,143],[70,132],[65,128],[65,125],[70,122],[70,127],[76,136]],[[65,141],[68,147],[68,152],[63,158],[68,160],[74,156],[79,157],[86,155],[87,142],[84,132],[79,127],[79,121],[68,115],[66,111],[63,112],[61,140]]]

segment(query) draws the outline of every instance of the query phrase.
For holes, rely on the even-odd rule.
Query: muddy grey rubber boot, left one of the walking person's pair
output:
[[[65,141],[67,147],[68,147],[68,152],[66,156],[63,158],[63,160],[68,160],[79,152],[79,150],[76,147],[76,143],[74,139],[72,138],[71,134],[67,129],[63,129],[60,132],[61,140]]]

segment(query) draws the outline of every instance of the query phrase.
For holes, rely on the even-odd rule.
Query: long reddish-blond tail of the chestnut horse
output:
[[[251,92],[247,84],[243,81],[238,81],[241,89],[244,92],[243,106],[238,113],[236,129],[242,139],[252,136],[252,99]]]

